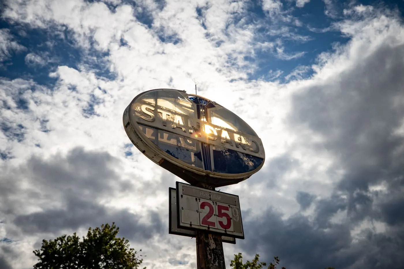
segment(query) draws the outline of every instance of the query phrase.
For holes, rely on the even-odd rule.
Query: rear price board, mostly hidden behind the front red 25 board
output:
[[[184,235],[188,237],[196,237],[196,230],[181,229],[177,224],[177,190],[174,188],[168,188],[169,192],[169,223],[168,233],[176,235]],[[236,244],[236,238],[222,235],[222,242]]]

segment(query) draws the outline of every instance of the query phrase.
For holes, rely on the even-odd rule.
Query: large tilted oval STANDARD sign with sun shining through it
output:
[[[123,124],[143,154],[192,185],[238,183],[265,160],[261,139],[248,124],[218,103],[185,91],[142,92],[126,107]]]

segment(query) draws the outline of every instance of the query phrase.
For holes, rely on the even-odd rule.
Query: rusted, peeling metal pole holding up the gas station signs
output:
[[[196,187],[215,190],[206,183],[199,183]],[[221,235],[196,231],[196,264],[197,269],[226,268]]]

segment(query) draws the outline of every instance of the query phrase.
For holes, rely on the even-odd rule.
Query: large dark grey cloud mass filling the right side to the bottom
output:
[[[292,98],[291,128],[322,137],[311,142],[301,132],[301,145],[331,154],[328,172],[344,174],[328,198],[297,193],[301,210],[314,204],[310,218],[282,219],[269,209],[246,219],[240,245],[249,254],[259,252],[265,261],[279,256],[293,269],[404,268],[404,137],[396,132],[404,119],[404,46],[390,44]],[[372,188],[380,184],[385,190]],[[332,221],[338,212],[346,216],[340,224]],[[386,227],[360,230],[364,220]]]

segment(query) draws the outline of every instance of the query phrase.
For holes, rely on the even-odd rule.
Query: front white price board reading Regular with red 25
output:
[[[244,239],[238,195],[177,182],[177,227]]]

